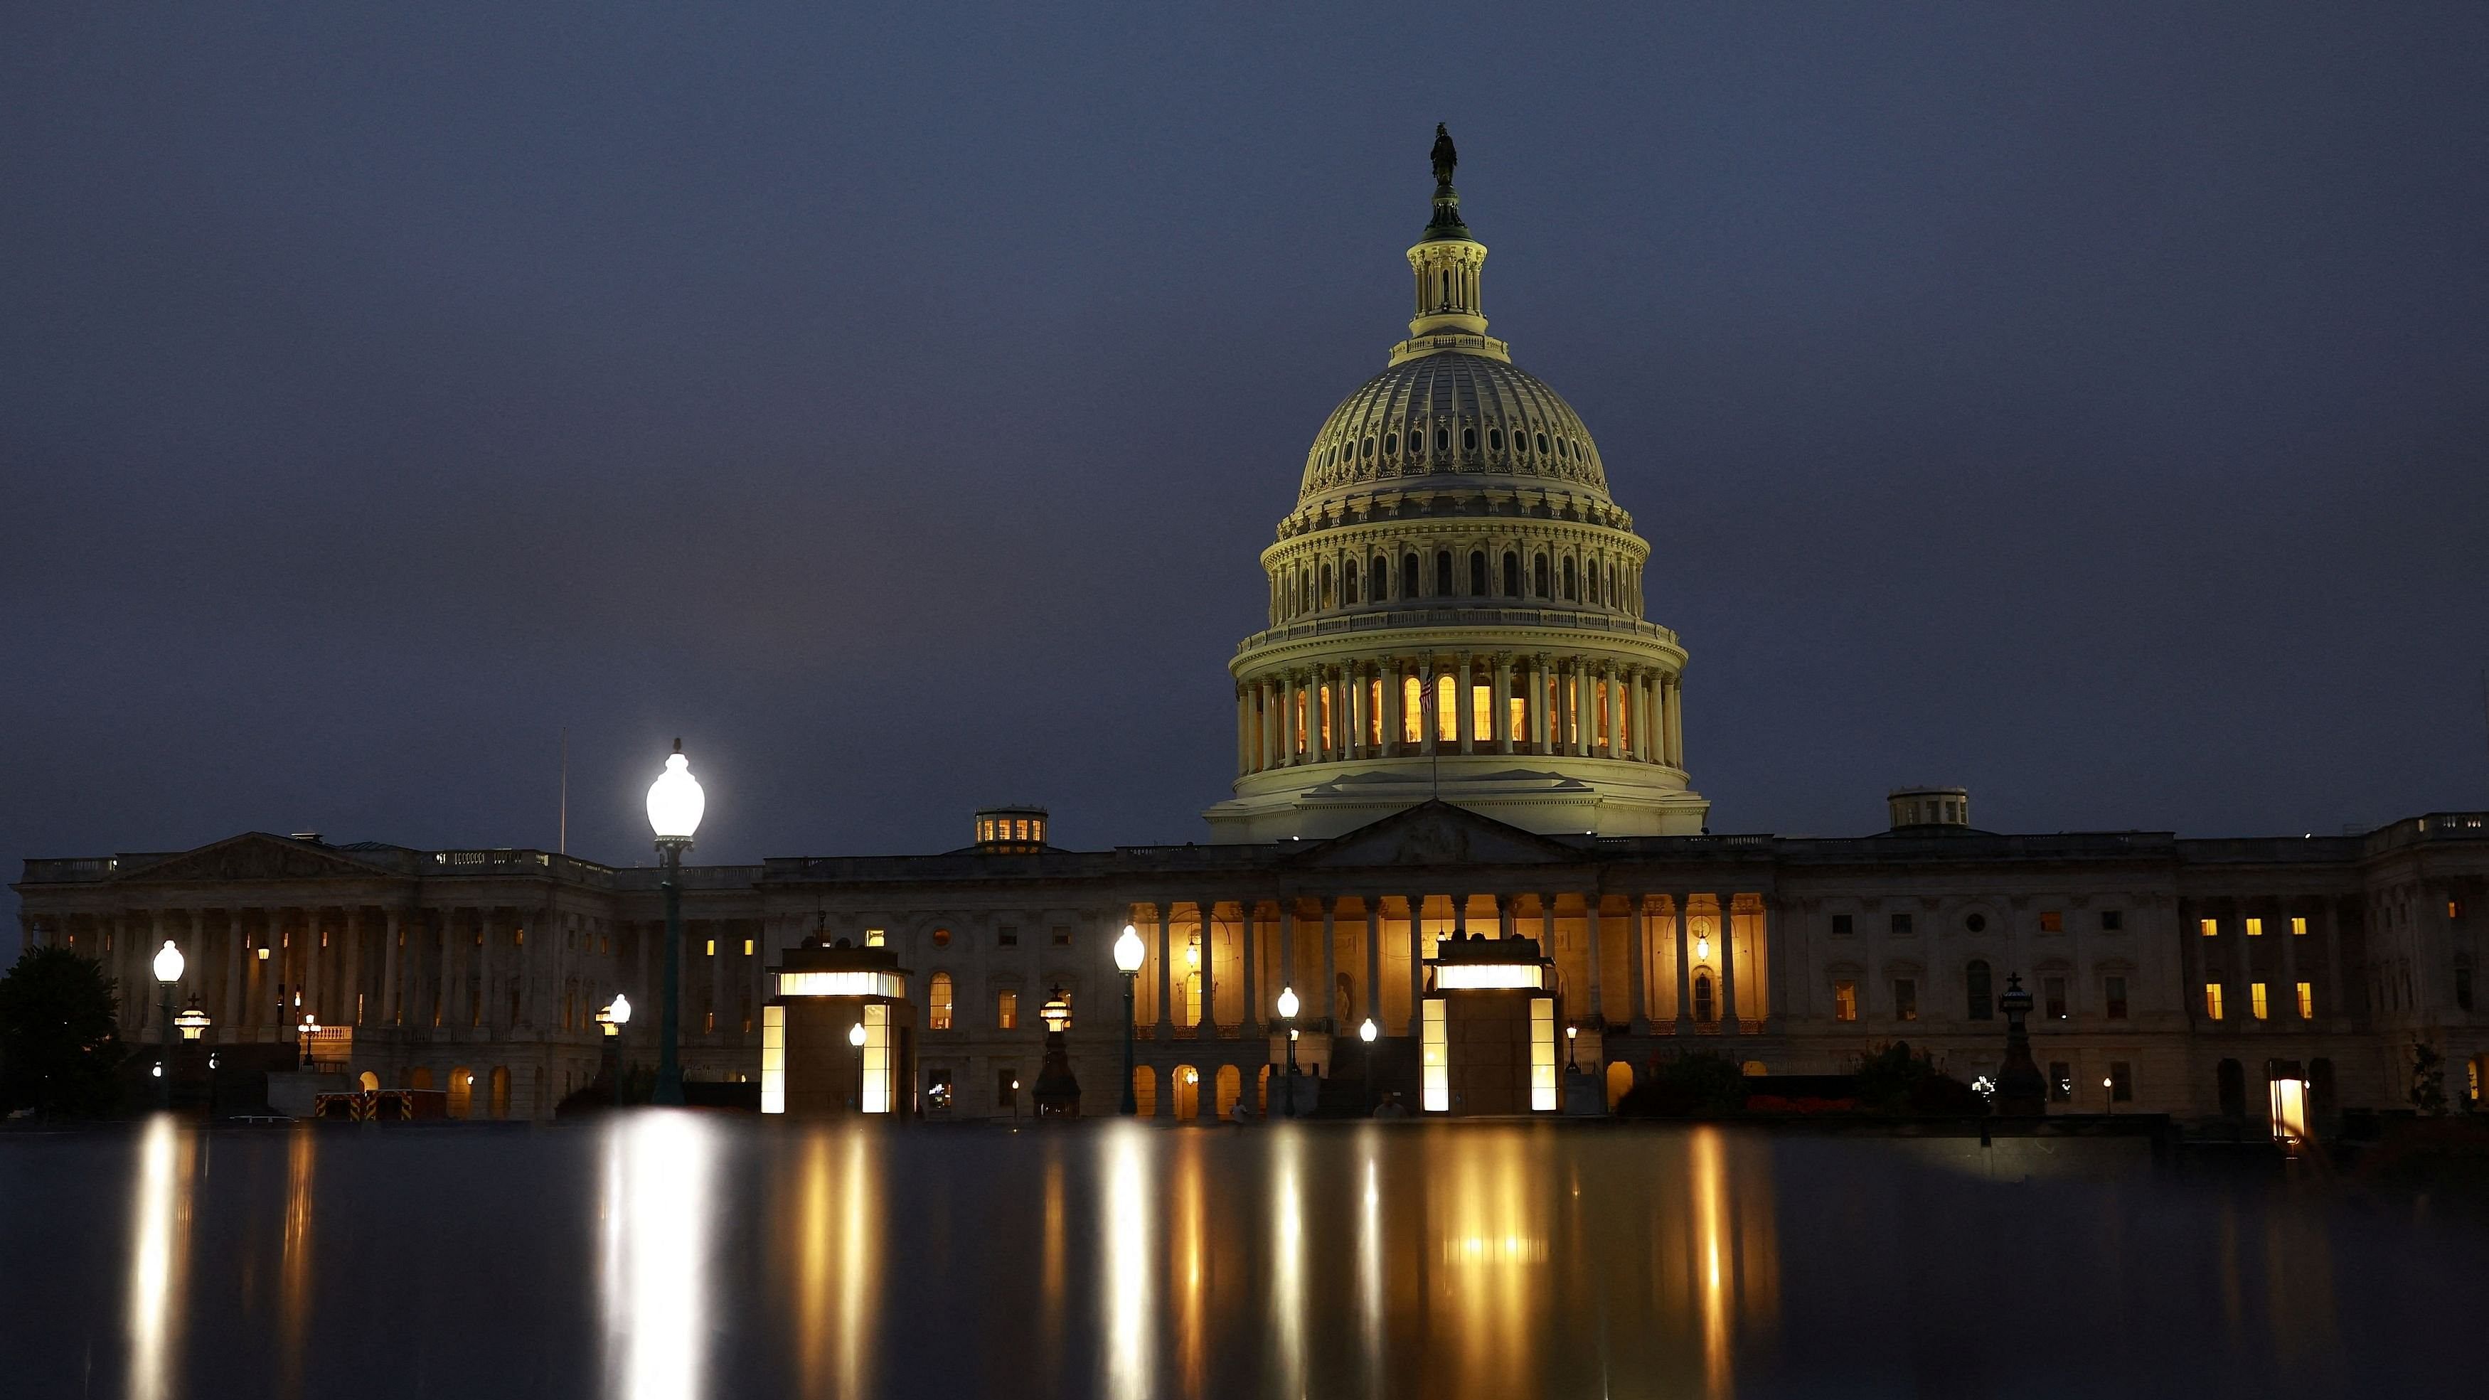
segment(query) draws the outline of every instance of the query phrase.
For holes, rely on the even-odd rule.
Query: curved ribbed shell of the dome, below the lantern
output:
[[[1563,395],[1506,361],[1436,353],[1386,368],[1332,410],[1297,497],[1446,475],[1608,495],[1598,445]]]

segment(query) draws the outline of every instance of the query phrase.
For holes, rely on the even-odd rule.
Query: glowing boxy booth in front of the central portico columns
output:
[[[1426,960],[1419,1109],[1556,1112],[1556,965],[1536,937],[1454,935]]]

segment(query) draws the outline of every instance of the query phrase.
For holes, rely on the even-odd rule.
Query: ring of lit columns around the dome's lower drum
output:
[[[1439,714],[1439,676],[1454,681],[1451,716]],[[1414,741],[1411,679],[1419,681]],[[1476,724],[1481,684],[1491,689],[1483,731]],[[1518,736],[1516,696],[1526,701]],[[1680,701],[1675,671],[1600,656],[1459,652],[1449,664],[1424,654],[1297,666],[1237,684],[1237,773],[1436,753],[1561,753],[1683,768]]]

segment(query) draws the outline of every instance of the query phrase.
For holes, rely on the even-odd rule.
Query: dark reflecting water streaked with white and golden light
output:
[[[2467,1393],[2482,1233],[1561,1124],[0,1136],[10,1395]]]

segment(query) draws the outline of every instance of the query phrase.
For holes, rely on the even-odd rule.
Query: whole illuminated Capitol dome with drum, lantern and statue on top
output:
[[[1710,811],[1685,781],[1685,649],[1643,617],[1650,542],[1573,405],[1486,333],[1454,162],[1436,127],[1409,338],[1322,423],[1262,550],[1269,627],[1227,666],[1217,840],[1339,836],[1429,798],[1573,836],[1697,833]]]

